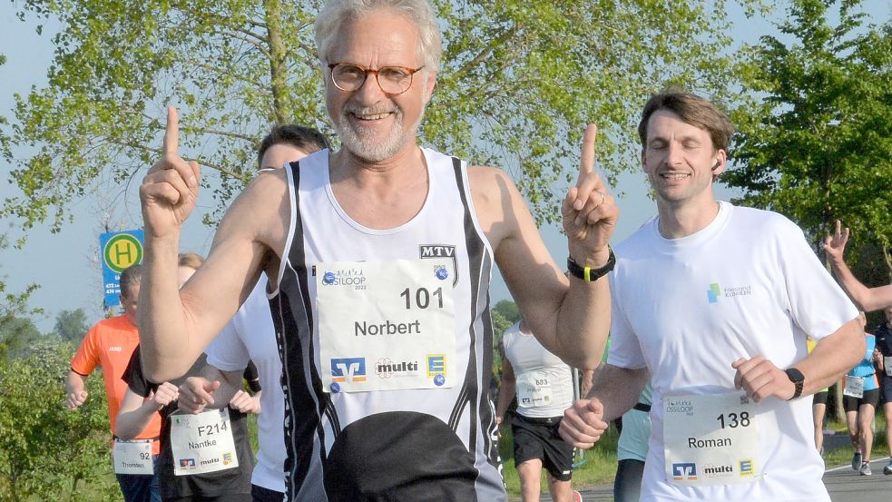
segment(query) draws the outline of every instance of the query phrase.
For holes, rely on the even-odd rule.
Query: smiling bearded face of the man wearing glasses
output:
[[[358,64],[377,70],[383,66],[417,68],[418,30],[402,15],[377,10],[344,22],[328,64]],[[356,91],[342,91],[326,69],[326,106],[344,148],[368,162],[381,162],[415,147],[418,124],[436,82],[436,72],[415,74],[403,94],[385,94],[374,74]]]

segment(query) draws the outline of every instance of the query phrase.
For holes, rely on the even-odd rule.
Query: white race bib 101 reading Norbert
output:
[[[327,392],[449,388],[456,379],[450,260],[316,266]]]

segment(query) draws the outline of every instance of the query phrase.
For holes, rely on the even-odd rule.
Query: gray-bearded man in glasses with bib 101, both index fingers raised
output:
[[[568,280],[505,172],[417,145],[441,54],[430,5],[333,0],[316,38],[342,149],[258,176],[179,294],[174,250],[200,172],[178,155],[169,110],[165,154],[141,189],[148,376],[188,369],[265,272],[289,500],[505,500],[489,395],[491,268],[546,349],[597,365],[618,211],[593,172],[595,128],[562,207]]]

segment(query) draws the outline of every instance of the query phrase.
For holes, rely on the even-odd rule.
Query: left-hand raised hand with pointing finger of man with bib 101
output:
[[[180,117],[177,109],[167,107],[164,130],[164,154],[142,180],[140,199],[145,230],[153,237],[178,233],[198,200],[198,162],[186,162],[179,153]]]

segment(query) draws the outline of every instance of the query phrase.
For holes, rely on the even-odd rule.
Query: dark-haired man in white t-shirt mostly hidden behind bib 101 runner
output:
[[[328,141],[315,129],[277,125],[260,142],[258,168],[279,169],[286,162],[299,161],[325,148]],[[230,393],[241,387],[242,370],[249,360],[253,361],[263,390],[257,420],[260,448],[251,476],[251,497],[255,502],[279,502],[285,496],[285,396],[266,290],[267,278],[261,276],[248,300],[205,350],[208,366],[204,374],[181,385],[180,408],[198,413],[215,402],[229,402]]]

